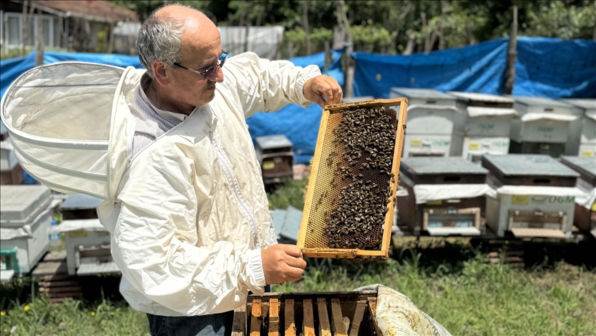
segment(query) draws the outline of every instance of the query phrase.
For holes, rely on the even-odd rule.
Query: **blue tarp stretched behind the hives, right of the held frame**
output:
[[[388,98],[390,88],[501,95],[508,38],[413,55],[355,52],[355,95]],[[513,95],[596,97],[596,41],[518,37]]]

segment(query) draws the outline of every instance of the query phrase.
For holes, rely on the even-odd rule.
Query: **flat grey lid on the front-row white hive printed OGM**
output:
[[[550,155],[484,155],[482,158],[505,176],[579,177],[577,172]]]

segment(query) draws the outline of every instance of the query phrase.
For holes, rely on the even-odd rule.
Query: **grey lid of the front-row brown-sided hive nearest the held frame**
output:
[[[413,175],[468,174],[486,175],[488,170],[463,157],[404,157],[401,169]]]

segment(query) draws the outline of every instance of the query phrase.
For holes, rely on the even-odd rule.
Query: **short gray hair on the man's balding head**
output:
[[[182,6],[177,3],[163,6],[153,11],[150,17],[143,22],[139,37],[137,38],[137,52],[147,75],[155,79],[151,70],[151,63],[161,61],[166,66],[173,66],[180,61],[182,56],[182,33],[184,22],[168,17],[168,14],[156,15],[156,12],[169,6]],[[188,6],[183,6],[188,7]],[[190,8],[190,7],[189,7]]]

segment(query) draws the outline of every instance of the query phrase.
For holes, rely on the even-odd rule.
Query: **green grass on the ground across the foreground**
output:
[[[516,270],[483,255],[461,269],[429,272],[421,253],[401,261],[355,263],[311,259],[304,277],[275,292],[352,290],[384,284],[408,295],[453,335],[595,335],[596,274],[559,262],[553,269]],[[149,335],[146,316],[126,302],[99,299],[50,304],[43,297],[12,302],[0,335]]]

